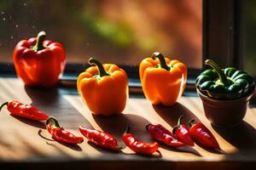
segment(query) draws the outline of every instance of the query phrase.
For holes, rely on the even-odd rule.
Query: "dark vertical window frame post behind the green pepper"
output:
[[[243,4],[239,0],[203,1],[203,60],[243,69]]]

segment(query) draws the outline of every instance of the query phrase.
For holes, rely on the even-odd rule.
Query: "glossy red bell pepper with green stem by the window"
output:
[[[65,50],[59,42],[45,40],[46,33],[20,41],[13,54],[15,71],[26,86],[55,86],[66,65]]]

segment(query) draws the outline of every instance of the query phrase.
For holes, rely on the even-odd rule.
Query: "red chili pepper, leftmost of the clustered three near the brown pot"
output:
[[[178,141],[171,131],[169,131],[168,129],[166,129],[166,127],[163,127],[160,124],[148,124],[146,126],[146,129],[150,133],[151,137],[158,142],[161,142],[171,147],[182,147],[185,145],[182,142]]]

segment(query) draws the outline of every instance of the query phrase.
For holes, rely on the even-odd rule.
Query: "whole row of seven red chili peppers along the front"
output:
[[[32,105],[21,104],[13,100],[3,103],[3,105],[0,106],[0,111],[4,105],[7,105],[8,111],[14,116],[20,116],[33,121],[46,121],[45,124],[48,132],[51,134],[52,138],[58,142],[80,144],[84,141],[82,137],[76,136],[61,127],[55,117],[46,115]],[[127,127],[125,133],[123,133],[123,142],[131,150],[141,155],[152,155],[154,152],[160,153],[158,142],[172,148],[183,147],[185,145],[194,146],[195,142],[203,148],[221,150],[217,139],[215,139],[205,125],[201,122],[195,123],[195,120],[191,119],[188,123],[189,126],[187,126],[181,122],[182,118],[183,116],[178,118],[177,125],[173,127],[172,132],[160,124],[148,124],[146,129],[152,139],[156,140],[154,143],[148,144],[137,139],[134,134],[129,132],[130,127]],[[79,131],[92,144],[113,151],[120,151],[122,149],[117,139],[111,134],[82,126],[79,126]]]

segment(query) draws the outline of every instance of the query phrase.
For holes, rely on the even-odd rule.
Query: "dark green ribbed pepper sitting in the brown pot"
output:
[[[212,67],[196,78],[196,87],[202,94],[213,99],[237,99],[253,89],[253,78],[236,68],[221,69],[214,61],[207,59],[206,65]]]

